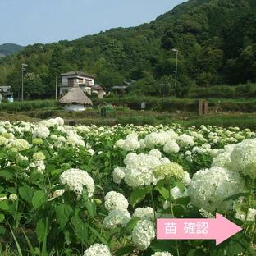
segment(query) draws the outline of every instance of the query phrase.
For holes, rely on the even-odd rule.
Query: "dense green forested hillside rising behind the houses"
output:
[[[32,98],[52,96],[55,77],[71,70],[92,73],[107,88],[130,78],[137,93],[173,94],[172,48],[179,50],[181,97],[193,86],[256,82],[256,1],[190,0],[149,24],[34,44],[2,60],[0,85],[11,85],[17,96],[25,62]]]

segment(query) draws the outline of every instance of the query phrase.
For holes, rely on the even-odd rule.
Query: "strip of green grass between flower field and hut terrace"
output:
[[[209,113],[206,116],[198,116],[195,112],[155,112],[155,111],[136,111],[124,108],[114,112],[108,112],[107,117],[100,117],[96,109],[85,112],[66,112],[64,110],[44,110],[31,112],[18,112],[9,114],[0,112],[0,119],[6,121],[40,121],[51,117],[62,117],[66,124],[75,121],[77,124],[84,125],[126,125],[132,123],[139,126],[146,124],[157,126],[159,124],[168,125],[173,122],[183,126],[239,126],[240,128],[256,129],[256,113],[242,112],[222,112]]]

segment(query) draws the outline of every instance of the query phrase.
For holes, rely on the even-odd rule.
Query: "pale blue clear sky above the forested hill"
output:
[[[149,22],[185,0],[0,0],[0,44],[53,43]]]

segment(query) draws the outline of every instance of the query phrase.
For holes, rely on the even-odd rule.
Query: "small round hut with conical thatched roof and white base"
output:
[[[60,100],[67,111],[84,111],[86,106],[93,106],[92,101],[88,98],[78,84],[75,84],[71,90]]]

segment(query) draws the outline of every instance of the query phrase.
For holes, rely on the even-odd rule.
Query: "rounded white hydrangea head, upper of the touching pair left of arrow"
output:
[[[128,208],[128,201],[125,196],[115,191],[110,191],[105,196],[105,207],[108,211],[121,210],[125,211]]]

